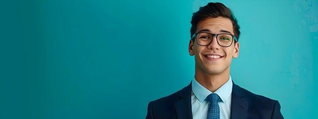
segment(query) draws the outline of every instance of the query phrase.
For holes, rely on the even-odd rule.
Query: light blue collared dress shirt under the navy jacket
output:
[[[231,101],[232,101],[233,82],[230,76],[229,80],[214,93],[220,96],[220,119],[230,119]],[[191,105],[193,119],[207,119],[209,104],[206,97],[211,91],[203,87],[195,79],[192,80]]]

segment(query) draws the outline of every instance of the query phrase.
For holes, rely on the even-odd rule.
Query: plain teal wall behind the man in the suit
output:
[[[234,82],[318,119],[318,1],[216,0],[239,20]],[[208,0],[0,0],[0,119],[143,119],[190,83]]]

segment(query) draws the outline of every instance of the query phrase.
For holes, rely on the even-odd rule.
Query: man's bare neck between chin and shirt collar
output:
[[[208,74],[196,68],[194,77],[203,87],[215,92],[229,80],[230,67],[218,74]]]

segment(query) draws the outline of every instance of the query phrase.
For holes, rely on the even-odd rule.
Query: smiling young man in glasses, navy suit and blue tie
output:
[[[230,64],[239,56],[239,25],[222,3],[193,13],[189,54],[195,79],[180,91],[152,101],[146,119],[284,119],[280,104],[232,81]]]

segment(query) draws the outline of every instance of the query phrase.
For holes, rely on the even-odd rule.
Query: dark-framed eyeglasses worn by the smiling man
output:
[[[208,46],[212,43],[213,37],[217,38],[217,42],[222,47],[230,47],[233,43],[233,39],[238,42],[237,37],[232,34],[228,33],[221,33],[221,34],[211,34],[207,32],[199,32],[195,33],[192,36],[192,39],[196,36],[197,42],[201,46]],[[194,39],[193,39],[194,40]]]

